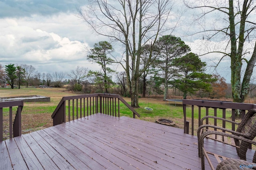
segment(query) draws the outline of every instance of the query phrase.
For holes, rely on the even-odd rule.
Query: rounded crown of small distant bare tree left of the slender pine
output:
[[[71,70],[71,73],[66,73],[77,84],[81,84],[87,79],[88,68],[77,66],[76,70]]]

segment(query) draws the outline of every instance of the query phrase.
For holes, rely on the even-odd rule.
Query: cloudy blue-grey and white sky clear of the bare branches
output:
[[[108,39],[92,33],[76,17],[76,7],[84,6],[86,2],[0,0],[0,64],[31,64],[40,73],[70,72],[76,66],[98,70],[99,66],[86,61],[83,47],[93,48],[94,43]],[[179,30],[186,28],[183,24]],[[181,31],[174,31],[174,35],[182,37],[192,52],[196,52],[202,41],[202,37],[184,37]],[[230,82],[228,65],[224,63],[218,69],[221,76]],[[115,67],[117,69],[118,66]]]

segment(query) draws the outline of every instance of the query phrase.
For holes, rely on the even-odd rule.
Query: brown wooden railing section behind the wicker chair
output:
[[[184,133],[189,133],[189,130],[191,129],[191,134],[194,135],[194,127],[196,126],[194,121],[198,121],[198,127],[200,126],[200,120],[202,117],[209,115],[209,109],[214,110],[214,116],[217,116],[217,109],[221,109],[222,112],[222,118],[226,119],[226,110],[232,110],[231,111],[231,119],[232,121],[235,121],[236,115],[235,111],[236,109],[241,110],[241,118],[244,117],[246,111],[256,108],[255,104],[246,104],[246,103],[233,103],[233,102],[222,102],[222,101],[211,101],[211,100],[182,100],[183,104],[183,113],[184,113]],[[187,121],[187,106],[191,105],[191,123]],[[195,106],[197,106],[196,110],[198,109],[198,117],[195,117]],[[202,108],[205,108],[205,113],[202,113]],[[196,114],[197,115],[197,114]],[[208,124],[208,119],[206,119],[206,124]],[[191,125],[191,128],[190,128]],[[214,120],[214,125],[217,125],[217,120]],[[222,121],[222,127],[226,127],[225,121]],[[232,124],[232,130],[235,130],[235,125]]]

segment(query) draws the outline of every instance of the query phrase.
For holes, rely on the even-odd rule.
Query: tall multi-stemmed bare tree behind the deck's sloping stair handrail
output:
[[[131,96],[131,106],[138,104],[138,80],[152,61],[151,54],[140,71],[140,56],[146,44],[154,45],[158,35],[168,30],[166,22],[172,9],[170,0],[92,0],[78,9],[78,17],[97,34],[120,42],[125,47],[122,64]]]

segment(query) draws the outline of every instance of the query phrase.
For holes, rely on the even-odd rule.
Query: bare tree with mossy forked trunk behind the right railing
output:
[[[256,1],[196,0],[185,4],[189,8],[202,11],[196,15],[198,25],[203,28],[197,33],[202,33],[201,36],[205,37],[206,42],[220,38],[226,41],[226,45],[222,44],[226,47],[224,50],[212,49],[206,54],[223,54],[218,64],[224,57],[230,57],[233,102],[244,102],[250,89],[250,78],[256,62]],[[213,15],[215,20],[212,20]],[[210,20],[207,20],[208,16]],[[253,53],[249,53],[249,50],[253,50]],[[245,67],[246,70],[243,72],[242,68]]]

